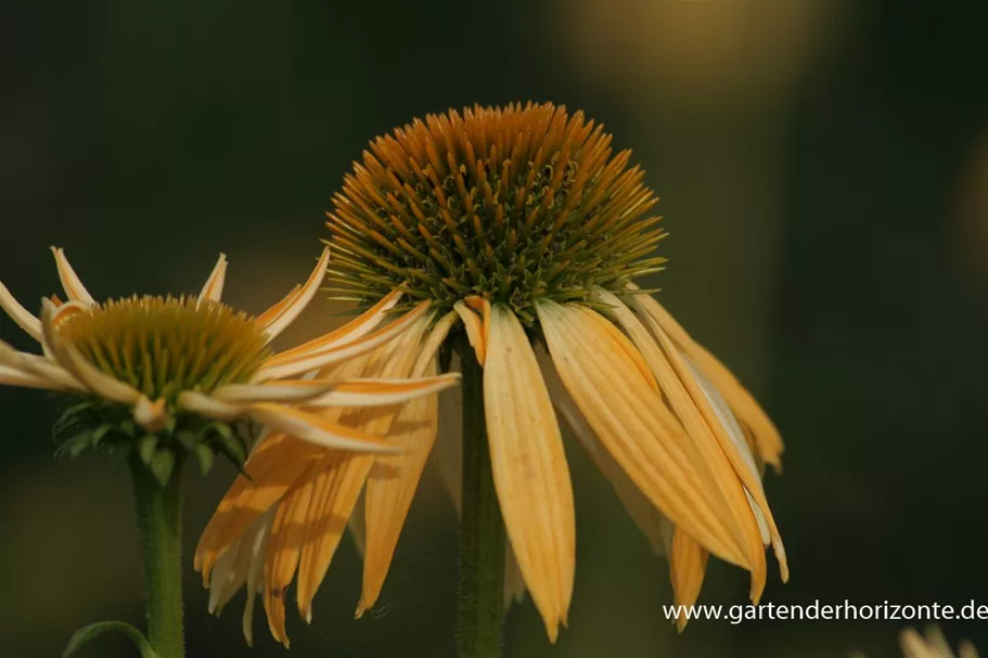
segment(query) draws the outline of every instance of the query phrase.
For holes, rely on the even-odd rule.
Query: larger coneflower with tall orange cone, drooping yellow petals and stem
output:
[[[566,623],[576,529],[559,418],[666,550],[678,603],[695,601],[708,554],[750,571],[755,601],[766,546],[786,578],[760,477],[778,466],[781,439],[731,373],[634,285],[662,269],[663,232],[629,157],[612,153],[602,127],[551,104],[450,111],[374,140],[334,198],[333,294],[380,306],[401,291],[406,308],[431,304],[378,362],[414,376],[459,357],[463,436],[452,440],[462,443],[439,437],[436,451],[462,455],[446,469],[461,500],[461,656],[499,651],[505,565],[551,640]],[[285,641],[285,586],[297,569],[308,617],[365,481],[358,615],[373,605],[436,444],[435,415],[435,401],[420,400],[400,416],[354,421],[392,426],[400,455],[278,459],[262,443],[253,482],[234,485],[200,545],[198,565],[207,578],[215,567],[221,586],[214,603],[264,580]]]

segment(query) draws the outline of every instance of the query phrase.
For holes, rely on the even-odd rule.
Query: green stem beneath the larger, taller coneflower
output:
[[[463,379],[463,518],[457,606],[460,658],[498,658],[504,612],[504,522],[490,469],[484,369],[460,350]]]

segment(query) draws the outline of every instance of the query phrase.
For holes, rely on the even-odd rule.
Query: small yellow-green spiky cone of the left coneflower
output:
[[[103,372],[151,400],[244,383],[268,356],[244,313],[195,298],[131,297],[70,315],[57,327]]]

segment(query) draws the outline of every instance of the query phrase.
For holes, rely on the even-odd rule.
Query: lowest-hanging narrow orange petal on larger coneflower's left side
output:
[[[301,543],[307,532],[306,520],[312,504],[312,488],[321,468],[312,463],[278,503],[274,521],[265,549],[265,610],[271,635],[285,648],[285,590],[295,577]]]

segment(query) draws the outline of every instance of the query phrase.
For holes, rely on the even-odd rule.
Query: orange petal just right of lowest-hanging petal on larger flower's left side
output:
[[[332,452],[326,455],[324,481],[318,496],[318,507],[306,520],[296,583],[298,614],[312,620],[312,597],[325,578],[347,528],[347,519],[360,498],[360,491],[374,463],[369,455]]]

